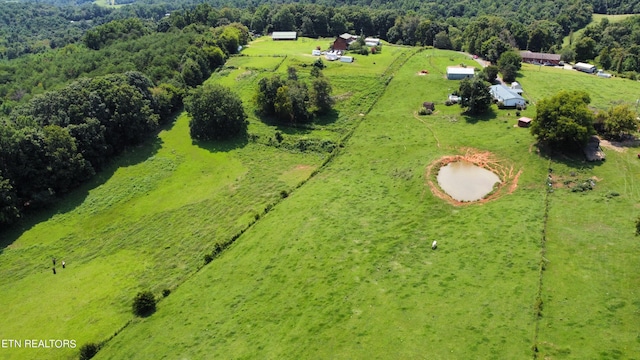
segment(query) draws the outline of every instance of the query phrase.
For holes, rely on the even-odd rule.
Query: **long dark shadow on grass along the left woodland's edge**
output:
[[[175,118],[162,125],[142,144],[125,149],[121,154],[112,158],[89,180],[68,193],[60,194],[47,206],[33,211],[24,210],[22,218],[16,223],[0,229],[0,255],[22,234],[36,225],[50,220],[57,214],[71,212],[80,206],[91,190],[105,184],[119,168],[140,164],[157,154],[162,147],[162,139],[158,134],[162,130],[168,130],[173,127],[174,123]]]

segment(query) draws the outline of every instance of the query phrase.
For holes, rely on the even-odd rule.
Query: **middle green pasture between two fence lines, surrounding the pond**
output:
[[[332,162],[97,358],[531,357],[547,161],[515,114],[414,116],[463,60],[411,57]],[[522,170],[515,192],[435,198],[426,167],[468,147]]]

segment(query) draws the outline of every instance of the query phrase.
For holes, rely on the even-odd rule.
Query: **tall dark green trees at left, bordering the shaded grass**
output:
[[[46,205],[143,141],[167,119],[153,88],[139,72],[83,78],[15,109],[0,125],[0,220]]]

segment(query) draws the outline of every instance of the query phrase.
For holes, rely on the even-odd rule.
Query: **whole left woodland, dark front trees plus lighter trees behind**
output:
[[[18,59],[15,68],[0,68],[0,79],[8,77],[0,91],[14,99],[0,105],[8,115],[0,119],[0,223],[45,206],[139,144],[182,106],[189,87],[202,83],[248,38],[240,24],[192,24],[167,33],[150,26],[138,19],[117,20],[94,28],[95,39],[106,39],[95,42],[97,49],[69,45]],[[139,33],[132,35],[132,28]],[[32,67],[28,74],[43,80],[49,71],[57,74],[54,79],[92,77],[66,86],[61,80],[47,85],[54,90],[25,96],[15,87],[20,72],[10,72],[25,64]]]

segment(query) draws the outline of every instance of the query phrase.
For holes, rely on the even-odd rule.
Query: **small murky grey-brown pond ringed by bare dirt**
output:
[[[480,200],[499,182],[498,175],[466,161],[451,162],[438,171],[438,185],[458,201]]]

